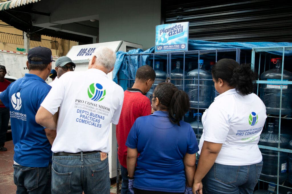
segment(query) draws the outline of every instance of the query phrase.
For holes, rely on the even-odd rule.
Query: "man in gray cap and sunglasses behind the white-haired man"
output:
[[[64,73],[68,71],[74,71],[76,67],[75,63],[73,63],[72,60],[67,56],[59,57],[56,60],[55,65],[56,65],[55,70],[57,72],[57,77],[55,78],[54,81],[49,83],[49,85],[52,87],[55,81],[58,80]]]

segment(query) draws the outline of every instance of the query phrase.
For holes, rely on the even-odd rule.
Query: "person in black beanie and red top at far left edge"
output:
[[[6,90],[9,86],[10,81],[5,79],[6,68],[3,65],[0,65],[0,92]],[[6,108],[4,104],[0,105],[0,151],[7,151],[7,148],[4,147],[6,141],[6,133],[8,130],[8,122],[10,118],[9,108]]]

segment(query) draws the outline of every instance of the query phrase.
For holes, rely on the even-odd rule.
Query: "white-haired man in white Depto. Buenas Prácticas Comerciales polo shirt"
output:
[[[52,193],[110,193],[109,127],[118,124],[124,99],[107,77],[115,61],[114,51],[97,48],[88,70],[62,75],[36,114],[37,123],[57,130]]]

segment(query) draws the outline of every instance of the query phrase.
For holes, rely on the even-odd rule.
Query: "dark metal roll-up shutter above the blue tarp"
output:
[[[161,1],[161,23],[190,22],[189,39],[292,42],[288,1]]]

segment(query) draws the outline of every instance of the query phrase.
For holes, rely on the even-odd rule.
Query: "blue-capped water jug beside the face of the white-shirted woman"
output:
[[[204,60],[199,60],[199,68],[187,73],[186,90],[193,108],[208,108],[211,104],[212,74],[204,69]]]

